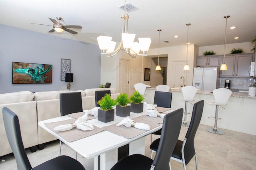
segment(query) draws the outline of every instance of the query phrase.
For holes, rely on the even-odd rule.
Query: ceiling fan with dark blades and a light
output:
[[[58,21],[49,18],[54,24],[53,24],[53,29],[50,30],[49,32],[62,32],[62,31],[66,31],[69,32],[71,34],[77,34],[78,32],[75,32],[73,30],[70,30],[68,28],[76,28],[76,29],[82,29],[82,26],[64,26],[62,23],[60,23],[60,20],[63,20],[61,17],[57,16],[56,17]],[[36,23],[31,23],[30,24],[36,24]],[[38,25],[43,25],[43,26],[51,26],[51,25],[45,25],[45,24],[38,24]]]

